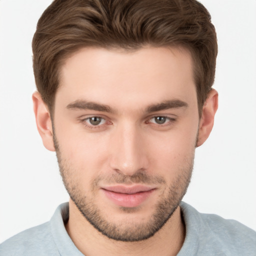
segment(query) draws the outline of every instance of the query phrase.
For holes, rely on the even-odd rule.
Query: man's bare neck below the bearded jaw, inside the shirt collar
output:
[[[160,230],[142,241],[123,242],[106,237],[82,216],[71,200],[65,227],[75,246],[87,256],[102,255],[102,251],[104,256],[176,255],[185,238],[185,226],[179,206]]]

